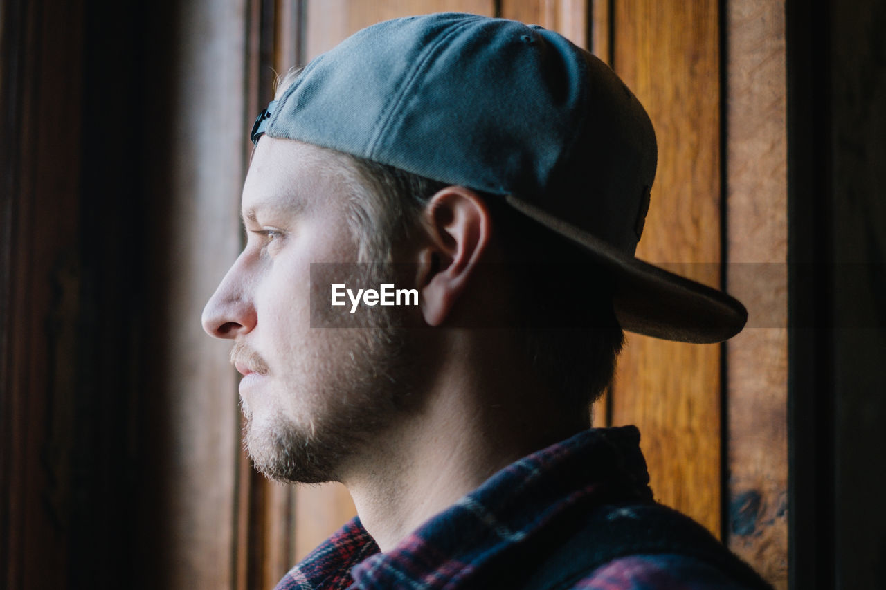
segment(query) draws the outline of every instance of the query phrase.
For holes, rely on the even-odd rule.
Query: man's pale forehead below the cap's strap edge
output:
[[[352,172],[336,154],[314,145],[262,136],[243,187],[243,216],[288,213],[344,202]]]

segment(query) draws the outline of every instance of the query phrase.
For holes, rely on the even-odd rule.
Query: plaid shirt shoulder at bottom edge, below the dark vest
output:
[[[688,555],[631,555],[607,563],[571,588],[578,590],[740,590],[718,568]]]

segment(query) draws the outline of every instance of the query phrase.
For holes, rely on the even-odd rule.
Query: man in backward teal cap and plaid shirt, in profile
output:
[[[257,469],[359,513],[278,587],[765,587],[652,501],[633,427],[588,429],[622,329],[746,318],[633,258],[655,136],[607,66],[540,27],[396,19],[284,81],[253,141],[204,327]]]

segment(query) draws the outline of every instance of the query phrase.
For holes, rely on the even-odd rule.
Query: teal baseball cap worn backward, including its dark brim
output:
[[[618,76],[562,35],[475,14],[362,29],[308,64],[252,138],[298,140],[500,196],[605,264],[622,328],[714,343],[747,311],[634,256],[655,131]]]

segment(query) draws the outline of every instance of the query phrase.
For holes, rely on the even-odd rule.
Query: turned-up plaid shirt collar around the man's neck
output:
[[[283,587],[347,587],[351,575],[361,588],[470,578],[577,503],[651,501],[639,442],[633,426],[579,432],[510,464],[385,554],[355,518],[287,574],[305,586]]]

